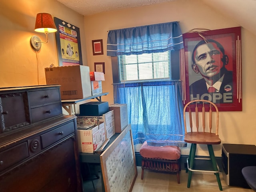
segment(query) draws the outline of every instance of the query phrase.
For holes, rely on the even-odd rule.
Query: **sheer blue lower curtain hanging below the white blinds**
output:
[[[114,84],[114,102],[126,103],[134,144],[185,147],[180,81]]]

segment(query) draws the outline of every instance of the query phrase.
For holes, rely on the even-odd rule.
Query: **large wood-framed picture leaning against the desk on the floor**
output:
[[[138,175],[131,125],[100,155],[106,192],[131,192]]]

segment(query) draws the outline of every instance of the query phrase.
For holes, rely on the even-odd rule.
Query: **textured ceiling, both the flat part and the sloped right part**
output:
[[[100,12],[178,0],[58,0],[86,16]],[[256,35],[256,0],[199,0]]]

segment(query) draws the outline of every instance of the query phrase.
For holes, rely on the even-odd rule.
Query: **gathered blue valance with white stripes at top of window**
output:
[[[183,48],[179,22],[153,24],[108,32],[107,55],[165,52]]]

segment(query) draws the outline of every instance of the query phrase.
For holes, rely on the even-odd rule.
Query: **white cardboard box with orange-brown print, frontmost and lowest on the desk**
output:
[[[98,150],[106,140],[104,123],[92,126],[79,126],[78,149],[82,153],[93,153]]]

